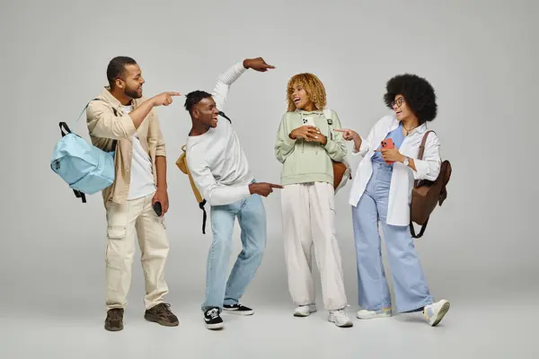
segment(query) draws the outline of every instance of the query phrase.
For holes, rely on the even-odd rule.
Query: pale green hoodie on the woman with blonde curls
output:
[[[303,138],[293,140],[288,135],[297,127],[305,125],[304,119],[310,118],[314,126],[327,137],[328,142],[322,145],[317,142],[306,142]],[[331,124],[322,110],[304,111],[297,109],[287,112],[278,127],[275,155],[278,162],[283,163],[281,185],[306,182],[329,182],[333,184],[333,165],[331,160],[342,162],[347,154],[347,147],[342,134],[332,131],[340,127],[337,113],[331,110]]]

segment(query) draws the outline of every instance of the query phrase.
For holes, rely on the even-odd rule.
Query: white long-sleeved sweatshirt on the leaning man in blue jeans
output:
[[[224,111],[230,86],[245,70],[243,63],[238,63],[217,78],[212,97],[218,110]],[[229,205],[251,196],[253,176],[247,157],[226,118],[219,117],[217,126],[203,135],[188,136],[186,156],[195,185],[210,206]]]

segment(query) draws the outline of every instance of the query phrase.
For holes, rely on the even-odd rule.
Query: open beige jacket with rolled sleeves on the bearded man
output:
[[[142,148],[148,153],[152,161],[155,184],[157,171],[155,171],[155,157],[166,156],[163,134],[159,126],[159,119],[155,109],[146,116],[138,129],[135,129],[133,120],[121,109],[121,103],[105,87],[96,99],[91,101],[86,109],[86,121],[93,145],[103,151],[113,151],[112,140],[117,139],[115,164],[116,178],[109,188],[102,191],[105,203],[126,203],[131,180],[131,158],[133,155],[133,136],[137,132]],[[133,100],[136,109],[145,98]],[[116,112],[115,112],[116,110]]]

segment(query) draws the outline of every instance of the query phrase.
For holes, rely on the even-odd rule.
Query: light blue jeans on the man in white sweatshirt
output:
[[[242,231],[243,250],[227,281],[236,216]],[[245,287],[261,265],[266,247],[266,210],[262,198],[251,195],[230,205],[211,206],[211,228],[213,242],[208,254],[206,301],[202,304],[202,311],[212,307],[222,311],[223,304],[232,305],[240,301]]]

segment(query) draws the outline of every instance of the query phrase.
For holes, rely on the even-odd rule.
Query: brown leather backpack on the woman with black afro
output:
[[[423,159],[423,153],[425,152],[425,143],[427,142],[427,136],[429,132],[434,132],[432,130],[427,131],[423,136],[423,140],[420,144],[420,153],[418,159]],[[427,223],[429,223],[429,218],[434,208],[437,205],[442,206],[442,203],[446,200],[447,190],[446,184],[451,178],[451,162],[445,160],[442,162],[440,167],[440,173],[436,180],[415,180],[414,186],[411,189],[411,208],[410,208],[410,232],[413,238],[421,238],[425,229],[427,228]],[[421,226],[420,233],[416,235],[415,229],[413,228],[413,223],[417,223]]]

